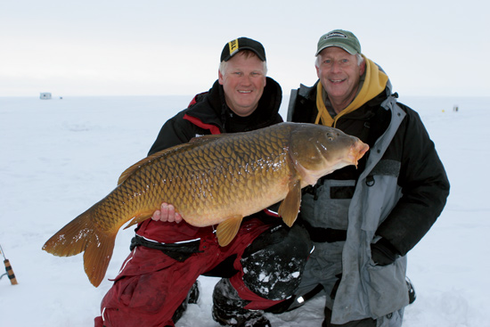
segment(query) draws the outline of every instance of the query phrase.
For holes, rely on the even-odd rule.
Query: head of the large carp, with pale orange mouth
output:
[[[357,167],[368,150],[368,144],[334,127],[298,124],[291,132],[290,156],[302,187],[339,168]]]

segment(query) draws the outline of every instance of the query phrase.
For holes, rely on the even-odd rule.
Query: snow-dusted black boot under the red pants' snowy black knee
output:
[[[223,326],[271,327],[262,310],[247,310],[249,301],[238,296],[230,281],[223,278],[213,291],[213,319]]]

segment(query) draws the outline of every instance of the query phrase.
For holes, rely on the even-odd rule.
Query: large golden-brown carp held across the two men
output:
[[[314,124],[202,136],[127,168],[112,192],[61,228],[43,249],[66,257],[85,251],[85,271],[97,287],[119,228],[129,220],[127,227],[148,219],[162,201],[172,203],[191,225],[217,225],[217,240],[226,246],[243,217],[280,200],[279,215],[291,226],[301,188],[335,169],[357,165],[368,149],[339,129]]]

